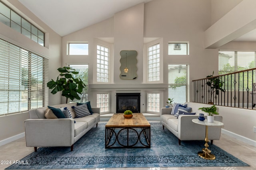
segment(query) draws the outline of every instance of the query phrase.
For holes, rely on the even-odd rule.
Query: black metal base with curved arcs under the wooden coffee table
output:
[[[150,127],[105,127],[105,148],[150,148]]]

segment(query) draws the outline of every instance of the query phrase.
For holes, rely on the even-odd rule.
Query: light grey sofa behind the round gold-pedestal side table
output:
[[[163,129],[165,127],[171,131],[178,138],[179,145],[181,145],[181,141],[205,139],[205,126],[193,123],[192,119],[197,119],[199,113],[204,113],[198,110],[198,108],[212,106],[194,102],[186,102],[185,104],[187,104],[187,107],[191,107],[191,112],[196,112],[196,115],[180,115],[177,119],[177,117],[171,115],[172,108],[162,108],[160,115],[160,122],[163,125]],[[221,113],[214,115],[214,120],[222,122]],[[211,140],[211,144],[213,140],[220,139],[220,131],[221,127],[208,127],[208,139]]]

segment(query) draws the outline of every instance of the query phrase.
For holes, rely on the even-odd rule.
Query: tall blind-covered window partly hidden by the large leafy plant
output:
[[[69,65],[70,67],[74,68],[79,74],[74,74],[74,78],[81,78],[81,80],[86,85],[83,88],[82,94],[78,94],[80,97],[80,100],[74,99],[73,101],[68,99],[68,103],[72,102],[79,102],[79,103],[85,103],[88,101],[88,64],[84,65]]]

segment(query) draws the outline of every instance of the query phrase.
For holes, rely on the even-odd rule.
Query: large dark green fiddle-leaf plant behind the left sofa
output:
[[[74,100],[76,98],[80,100],[78,94],[82,94],[82,90],[86,85],[80,78],[74,76],[79,74],[79,72],[68,66],[58,68],[57,70],[60,72],[57,80],[51,80],[47,83],[47,87],[52,89],[51,93],[56,94],[62,91],[61,95],[65,96],[67,99]]]

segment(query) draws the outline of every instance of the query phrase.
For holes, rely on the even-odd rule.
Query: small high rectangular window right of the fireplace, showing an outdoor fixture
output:
[[[168,55],[188,55],[188,43],[169,43]]]

